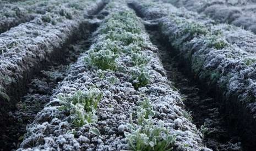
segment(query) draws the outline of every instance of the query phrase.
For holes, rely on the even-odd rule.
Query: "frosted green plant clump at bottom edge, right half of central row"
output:
[[[172,150],[175,136],[165,127],[164,121],[155,124],[155,112],[150,100],[145,100],[138,107],[135,116],[136,123],[133,123],[132,114],[130,115],[130,123],[127,124],[129,132],[124,132],[126,139],[132,150]]]

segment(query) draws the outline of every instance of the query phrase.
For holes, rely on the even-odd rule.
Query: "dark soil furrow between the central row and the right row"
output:
[[[154,25],[153,25],[154,26]],[[225,115],[221,105],[199,84],[197,79],[182,65],[178,54],[171,47],[166,47],[157,27],[146,25],[151,42],[159,49],[158,54],[164,65],[168,79],[183,96],[187,112],[192,114],[192,121],[203,133],[203,142],[213,150],[243,150],[241,140],[226,127]]]

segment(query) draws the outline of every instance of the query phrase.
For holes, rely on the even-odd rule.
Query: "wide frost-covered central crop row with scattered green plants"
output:
[[[122,1],[104,11],[94,44],[37,114],[21,148],[208,150],[140,19]]]

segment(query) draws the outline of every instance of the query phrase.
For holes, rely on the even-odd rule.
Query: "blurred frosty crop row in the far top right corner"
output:
[[[256,33],[256,4],[249,1],[176,1],[163,0],[176,7],[185,7],[188,10],[205,14],[220,23],[242,26],[246,30]]]

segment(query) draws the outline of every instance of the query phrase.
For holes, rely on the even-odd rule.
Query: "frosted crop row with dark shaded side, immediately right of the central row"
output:
[[[149,15],[151,7],[157,3],[147,1],[133,2],[133,7],[141,16]],[[146,7],[145,7],[146,6]],[[208,90],[222,94],[222,104],[226,106],[226,114],[234,131],[241,135],[249,146],[255,142],[255,99],[256,99],[256,57],[250,53],[249,45],[239,42],[231,43],[236,38],[227,39],[225,33],[237,32],[242,29],[223,25],[204,24],[195,19],[188,19],[171,13],[157,20],[159,31],[166,37],[167,43],[177,51],[187,66]],[[231,36],[232,37],[232,36]],[[252,46],[254,47],[254,46]],[[253,52],[254,53],[254,52]],[[184,63],[184,62],[183,62]],[[235,125],[235,126],[234,126]]]

